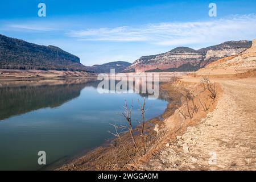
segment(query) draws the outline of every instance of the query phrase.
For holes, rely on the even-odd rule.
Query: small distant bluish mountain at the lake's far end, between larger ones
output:
[[[115,69],[115,73],[120,73],[130,65],[131,63],[125,61],[114,61],[100,65],[96,64],[90,67],[89,69],[94,73],[110,73],[110,69]]]

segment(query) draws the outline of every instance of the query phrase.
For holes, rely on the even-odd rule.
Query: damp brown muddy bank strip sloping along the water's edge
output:
[[[167,82],[160,85],[162,93],[168,97],[168,105],[166,110],[160,117],[155,117],[146,122],[145,125],[145,140],[146,148],[150,148],[159,140],[159,134],[154,130],[155,126],[159,129],[163,126],[163,119],[170,117],[174,111],[180,107],[180,93],[177,92],[172,82]],[[139,135],[141,126],[134,129],[135,141],[138,143],[139,148],[142,150],[141,136]],[[126,151],[129,152],[132,160],[123,150],[120,141],[117,138],[109,140],[104,146],[94,148],[92,151],[86,152],[75,159],[71,159],[57,170],[132,170],[136,169],[136,161],[141,158],[137,150],[135,150],[129,133],[122,135],[122,143]],[[142,150],[143,151],[143,150]]]

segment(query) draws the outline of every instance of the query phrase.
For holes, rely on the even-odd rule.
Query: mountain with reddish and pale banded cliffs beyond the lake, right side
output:
[[[224,42],[199,50],[177,47],[166,53],[142,56],[124,72],[196,71],[214,60],[237,55],[249,47],[251,41],[247,40]]]

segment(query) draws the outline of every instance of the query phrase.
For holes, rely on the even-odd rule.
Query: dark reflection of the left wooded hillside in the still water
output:
[[[57,107],[80,96],[81,89],[94,85],[93,80],[53,84],[24,82],[24,85],[2,84],[0,88],[0,120],[44,107]]]

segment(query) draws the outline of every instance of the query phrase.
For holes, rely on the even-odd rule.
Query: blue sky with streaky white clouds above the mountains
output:
[[[45,3],[46,16],[38,16]],[[209,16],[209,3],[217,16]],[[84,65],[133,61],[179,46],[256,38],[256,1],[1,0],[0,34],[53,45]]]

